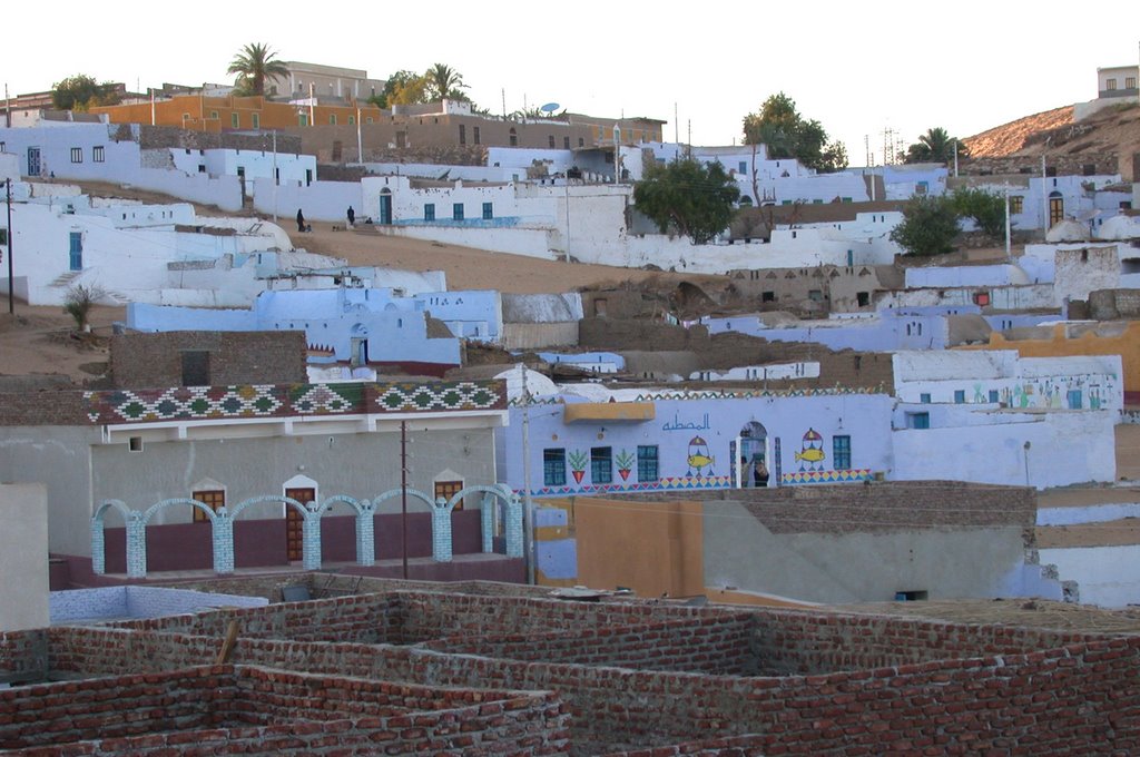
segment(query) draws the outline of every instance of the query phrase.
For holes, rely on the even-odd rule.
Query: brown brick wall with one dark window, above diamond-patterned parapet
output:
[[[304,332],[165,332],[111,337],[114,386],[181,386],[188,351],[210,353],[206,383],[215,386],[308,381]]]

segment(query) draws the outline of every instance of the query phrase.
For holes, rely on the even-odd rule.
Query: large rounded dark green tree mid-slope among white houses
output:
[[[676,231],[706,244],[732,221],[740,197],[736,182],[719,163],[692,158],[651,165],[634,187],[634,204],[662,234]]]

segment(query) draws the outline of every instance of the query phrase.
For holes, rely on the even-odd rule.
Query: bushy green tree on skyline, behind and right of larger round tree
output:
[[[847,148],[828,137],[819,121],[805,119],[796,100],[783,92],[772,95],[758,113],[744,116],[744,144],[764,145],[768,157],[795,157],[822,173],[847,168]]]

